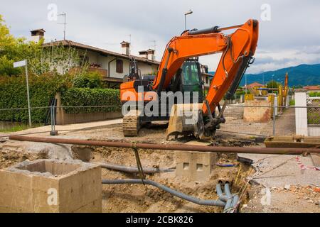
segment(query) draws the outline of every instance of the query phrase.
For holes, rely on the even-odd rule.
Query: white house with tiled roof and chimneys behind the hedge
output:
[[[43,29],[33,30],[31,31],[31,38],[34,41],[40,40],[43,38],[44,33]],[[158,70],[160,62],[154,59],[154,50],[142,51],[139,56],[135,56],[130,53],[130,43],[122,41],[119,44],[122,48],[121,53],[77,43],[73,40],[58,40],[44,43],[43,47],[63,45],[75,48],[78,50],[80,59],[85,57],[85,60],[89,62],[89,70],[100,72],[102,80],[108,84],[108,87],[112,88],[119,87],[119,84],[123,82],[124,76],[129,74],[129,62],[132,57],[137,61],[142,75],[152,74]]]

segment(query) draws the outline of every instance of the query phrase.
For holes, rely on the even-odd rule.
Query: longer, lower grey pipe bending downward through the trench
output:
[[[169,192],[170,194],[173,194],[174,196],[177,196],[180,199],[185,199],[187,201],[191,201],[194,204],[198,205],[206,205],[206,206],[225,206],[225,202],[221,200],[202,200],[195,198],[193,196],[188,196],[187,194],[183,194],[181,192],[178,192],[174,189],[171,189],[169,187],[164,186],[163,184],[159,184],[157,182],[154,182],[150,179],[144,179],[142,182],[142,179],[102,179],[102,184],[149,184],[154,187],[157,187],[159,189],[162,189],[166,192]]]

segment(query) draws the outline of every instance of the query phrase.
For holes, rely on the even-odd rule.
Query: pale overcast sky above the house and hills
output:
[[[67,13],[66,38],[79,43],[121,52],[122,40],[129,41],[132,54],[153,48],[156,40],[156,60],[161,60],[166,43],[187,28],[232,26],[249,18],[260,21],[260,37],[255,64],[247,72],[265,72],[302,63],[320,63],[320,1],[317,0],[122,0],[122,1],[1,1],[0,14],[11,33],[29,37],[32,29],[44,28],[46,41],[63,39],[63,17],[48,20],[50,4],[58,13]],[[270,6],[270,21],[262,20]],[[52,18],[52,17],[50,17]],[[220,55],[201,57],[201,63],[215,70]]]

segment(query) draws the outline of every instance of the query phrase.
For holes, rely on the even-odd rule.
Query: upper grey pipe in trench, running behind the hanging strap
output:
[[[109,169],[109,170],[117,170],[121,172],[131,172],[131,173],[138,173],[139,170],[137,167],[132,166],[125,166],[125,165],[116,165],[112,163],[105,163],[105,162],[96,162],[102,168]],[[174,172],[174,168],[153,168],[153,167],[143,167],[144,173],[146,174],[154,174],[159,172]]]

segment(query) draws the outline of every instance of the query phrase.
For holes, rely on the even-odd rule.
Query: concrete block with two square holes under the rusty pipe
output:
[[[216,153],[176,151],[176,176],[206,181],[217,160]]]

